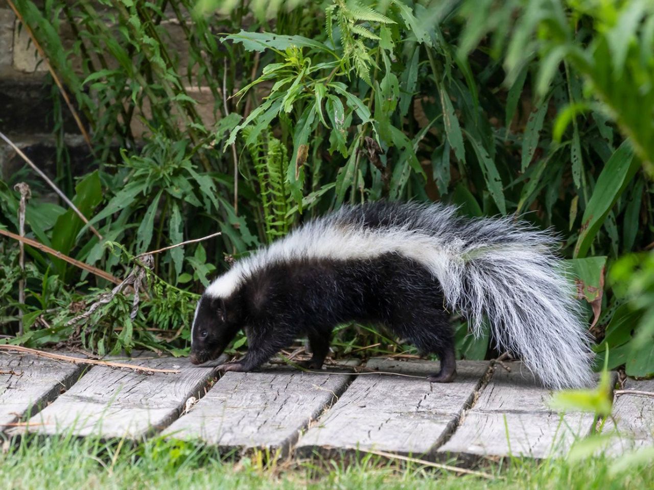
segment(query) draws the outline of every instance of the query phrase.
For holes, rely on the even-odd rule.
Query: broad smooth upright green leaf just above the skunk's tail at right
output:
[[[574,257],[584,257],[591,247],[606,215],[613,208],[615,201],[622,195],[640,167],[634,159],[633,150],[628,141],[623,142],[613,153],[597,178],[593,195],[586,206],[582,218],[581,231],[574,250]]]

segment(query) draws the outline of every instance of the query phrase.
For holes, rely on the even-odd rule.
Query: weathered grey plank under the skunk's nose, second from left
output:
[[[69,391],[31,417],[26,430],[41,434],[143,438],[176,419],[190,397],[201,396],[215,375],[216,365],[199,367],[192,365],[188,358],[154,357],[151,352],[140,353],[139,357],[125,362],[181,372],[144,374],[94,366]]]

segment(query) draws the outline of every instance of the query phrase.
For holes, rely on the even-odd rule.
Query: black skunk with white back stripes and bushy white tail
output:
[[[250,371],[300,335],[322,367],[332,329],[377,323],[441,361],[430,382],[456,376],[449,312],[475,335],[487,321],[498,348],[554,389],[588,385],[589,337],[557,238],[513,218],[464,218],[454,206],[367,203],[310,221],[216,278],[201,296],[190,360],[216,359],[240,329],[248,351],[222,370]]]

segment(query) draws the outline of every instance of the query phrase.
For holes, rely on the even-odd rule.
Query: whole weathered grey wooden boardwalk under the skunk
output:
[[[201,397],[217,362],[194,367],[188,359],[151,353],[126,362],[181,372],[148,375],[0,353],[0,432],[137,439],[165,429],[166,436],[223,451],[269,448],[286,455],[295,445],[298,457],[361,450],[471,463],[560,455],[593,423],[592,414],[553,412],[551,391],[521,363],[485,376],[487,362],[462,361],[452,384],[428,383],[424,376],[438,370],[428,361],[371,359],[366,368],[382,373],[357,376],[267,367],[228,372]],[[651,393],[654,380],[628,380],[625,389]],[[191,397],[199,401],[181,415]],[[29,414],[27,427],[16,424]],[[609,454],[654,446],[653,397],[621,395],[613,417],[604,428],[618,434],[608,442]]]

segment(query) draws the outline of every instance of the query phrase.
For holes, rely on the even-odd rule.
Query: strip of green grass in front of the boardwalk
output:
[[[651,459],[615,471],[605,457],[579,463],[514,459],[481,468],[485,480],[388,462],[367,456],[358,463],[301,461],[264,464],[261,453],[236,460],[184,442],[155,438],[143,444],[86,438],[25,438],[5,444],[0,482],[5,489],[618,489],[649,488]]]

